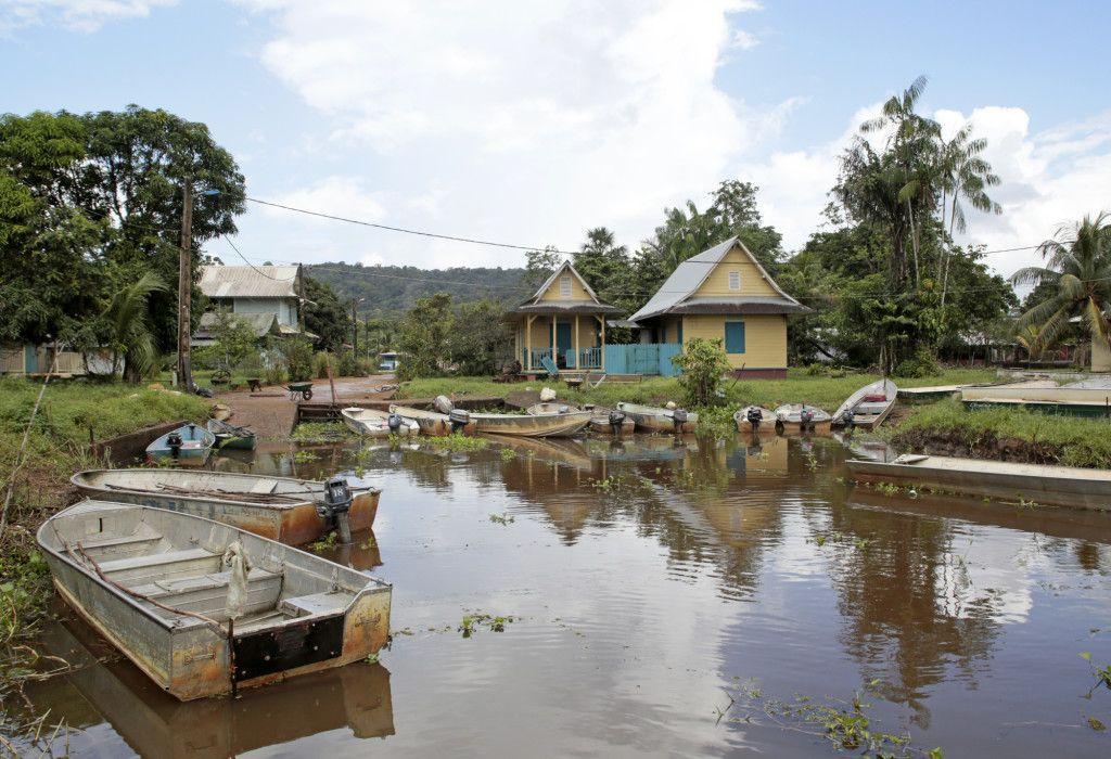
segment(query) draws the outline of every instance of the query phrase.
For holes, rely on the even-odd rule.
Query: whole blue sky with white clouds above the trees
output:
[[[563,250],[597,225],[635,246],[724,179],[759,184],[797,250],[857,125],[924,73],[923,110],[989,140],[1004,213],[969,239],[997,250],[1111,209],[1108,29],[1094,1],[0,0],[0,67],[17,113],[207,122],[254,198]],[[236,243],[254,262],[523,260],[258,205]]]

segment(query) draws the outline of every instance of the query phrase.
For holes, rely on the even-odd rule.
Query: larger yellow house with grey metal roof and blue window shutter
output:
[[[787,376],[787,317],[810,308],[788,295],[737,237],[679,264],[629,317],[642,343],[721,340],[738,376]]]

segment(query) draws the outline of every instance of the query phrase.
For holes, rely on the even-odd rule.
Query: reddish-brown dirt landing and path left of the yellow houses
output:
[[[383,391],[383,386],[394,385],[392,374],[373,374],[369,377],[337,377],[336,402],[361,401],[367,398],[389,398],[392,389]],[[327,380],[312,381],[312,399],[331,401],[332,391]],[[227,404],[232,409],[229,422],[244,427],[251,427],[260,438],[284,438],[293,427],[297,415],[297,399],[290,401],[289,391],[284,385],[267,385],[258,393],[236,391],[219,393],[218,402]]]

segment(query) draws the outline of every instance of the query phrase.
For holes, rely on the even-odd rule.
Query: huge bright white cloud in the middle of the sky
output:
[[[714,81],[754,2],[248,4],[274,24],[264,64],[327,117],[331,152],[373,175],[401,226],[569,247],[607,224],[634,245],[798,103],[754,108]],[[521,261],[381,242],[426,265]]]

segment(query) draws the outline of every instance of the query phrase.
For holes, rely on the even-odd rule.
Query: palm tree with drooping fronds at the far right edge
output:
[[[1055,283],[1057,293],[1022,314],[1015,327],[1038,325],[1041,345],[1052,345],[1080,317],[1081,327],[1094,341],[1108,344],[1111,324],[1111,214],[1084,216],[1079,224],[1063,225],[1054,240],[1047,240],[1038,251],[1045,266],[1027,266],[1011,275],[1011,284]]]

